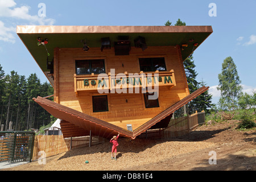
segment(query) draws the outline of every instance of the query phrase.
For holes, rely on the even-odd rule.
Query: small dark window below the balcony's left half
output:
[[[109,111],[108,96],[93,96],[93,112]]]

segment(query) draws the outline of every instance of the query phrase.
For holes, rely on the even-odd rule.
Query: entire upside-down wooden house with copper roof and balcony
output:
[[[54,88],[34,101],[61,119],[64,137],[90,132],[134,139],[168,125],[189,94],[183,61],[211,26],[18,26]],[[154,97],[154,99],[152,99]]]

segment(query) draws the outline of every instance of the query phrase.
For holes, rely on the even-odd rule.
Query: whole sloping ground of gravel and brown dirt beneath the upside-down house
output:
[[[118,140],[118,159],[110,159],[111,144],[77,148],[38,162],[5,170],[256,170],[256,130],[235,130],[238,121],[200,126],[169,140]],[[209,164],[210,151],[217,164]],[[85,161],[89,163],[86,164]],[[212,161],[212,160],[210,160]]]

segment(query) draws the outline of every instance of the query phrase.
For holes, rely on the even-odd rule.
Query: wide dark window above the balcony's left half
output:
[[[104,59],[93,60],[76,60],[76,74],[100,74],[105,73],[105,61]]]

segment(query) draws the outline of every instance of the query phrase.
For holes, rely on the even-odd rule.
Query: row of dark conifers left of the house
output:
[[[0,130],[39,129],[50,123],[54,118],[32,98],[52,94],[51,84],[41,83],[36,73],[28,78],[15,71],[6,75],[0,64]]]

